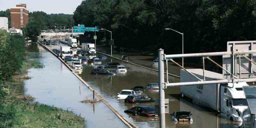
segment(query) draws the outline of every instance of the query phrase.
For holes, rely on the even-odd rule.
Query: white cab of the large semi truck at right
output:
[[[221,116],[231,121],[243,122],[243,113],[248,109],[243,86],[246,82],[221,84]]]

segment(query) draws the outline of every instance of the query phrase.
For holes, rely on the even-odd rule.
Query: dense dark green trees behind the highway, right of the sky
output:
[[[227,41],[255,40],[255,0],[85,0],[75,24],[112,31],[115,45],[180,54],[226,51]],[[110,37],[107,37],[108,39]]]

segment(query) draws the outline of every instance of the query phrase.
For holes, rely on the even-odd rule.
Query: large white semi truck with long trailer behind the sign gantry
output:
[[[203,78],[203,69],[187,69],[199,79]],[[196,77],[187,71],[180,70],[181,82],[198,81]],[[223,80],[222,74],[205,70],[205,81]],[[193,103],[219,112],[221,117],[235,122],[243,122],[243,114],[248,109],[243,86],[249,86],[246,82],[226,84],[202,84],[186,85],[180,87],[181,96],[189,98]]]

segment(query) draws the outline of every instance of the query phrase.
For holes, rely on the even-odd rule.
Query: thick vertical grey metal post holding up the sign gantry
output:
[[[158,61],[159,61],[159,65],[158,65],[158,85],[159,85],[159,102],[160,102],[160,106],[159,106],[159,115],[160,115],[160,128],[165,128],[165,98],[164,98],[164,90],[163,90],[163,86],[162,83],[164,83],[164,58],[163,57],[164,54],[164,50],[163,49],[159,49],[158,50]]]

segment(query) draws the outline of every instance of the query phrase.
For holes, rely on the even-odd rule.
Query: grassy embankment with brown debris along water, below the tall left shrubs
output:
[[[13,109],[15,116],[8,124],[14,128],[84,128],[85,120],[71,111],[62,110],[57,107],[33,102],[31,96],[24,96],[24,79],[30,77],[26,74],[30,68],[42,68],[43,65],[33,58],[36,53],[28,53],[20,72],[13,76],[12,81],[5,84],[9,94],[5,99],[7,108]],[[33,79],[33,78],[32,78]],[[38,85],[35,85],[38,86]],[[7,110],[8,111],[8,110]],[[11,125],[10,125],[11,124]],[[8,127],[8,126],[7,126]]]

